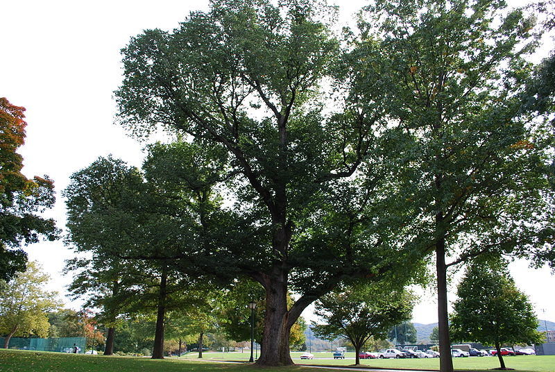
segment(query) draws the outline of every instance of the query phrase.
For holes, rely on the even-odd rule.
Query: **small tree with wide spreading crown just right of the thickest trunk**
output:
[[[410,319],[413,303],[407,291],[372,285],[334,291],[315,307],[327,324],[314,324],[314,335],[348,339],[355,347],[355,364],[360,364],[360,350],[370,337],[384,338],[393,325]]]

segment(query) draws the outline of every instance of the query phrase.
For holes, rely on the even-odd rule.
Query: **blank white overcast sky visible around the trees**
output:
[[[24,156],[24,174],[53,178],[58,201],[47,215],[60,228],[65,224],[65,208],[59,193],[74,171],[110,153],[138,167],[142,163],[142,145],[113,124],[112,92],[121,82],[119,50],[144,29],[171,30],[189,11],[207,10],[207,4],[207,0],[2,2],[0,96],[27,109],[26,144],[19,151]],[[343,1],[341,19],[352,19],[364,4]],[[547,45],[545,51],[551,47]],[[26,251],[50,273],[49,287],[65,294],[71,278],[62,278],[60,271],[71,251],[62,241],[33,244]],[[555,321],[555,277],[549,270],[529,269],[518,262],[511,265],[511,272],[540,319]],[[433,298],[431,291],[423,294],[413,321],[437,321]],[[307,312],[305,316],[310,317]]]

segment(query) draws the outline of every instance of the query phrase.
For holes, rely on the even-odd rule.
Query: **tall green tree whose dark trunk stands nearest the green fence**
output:
[[[135,167],[121,160],[99,158],[89,167],[71,175],[64,190],[67,205],[66,243],[78,255],[67,260],[65,272],[74,273],[69,291],[75,298],[85,298],[86,307],[99,307],[99,319],[108,325],[105,355],[113,354],[117,316],[124,312],[130,297],[126,289],[137,285],[144,271],[135,262],[111,255],[121,247],[118,228],[121,210],[136,201],[142,192],[143,178]]]

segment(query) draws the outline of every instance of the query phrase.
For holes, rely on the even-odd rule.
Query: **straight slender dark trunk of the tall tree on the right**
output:
[[[436,240],[436,274],[438,280],[438,335],[439,335],[439,369],[441,372],[453,372],[451,340],[447,314],[447,266],[445,265],[445,237]]]

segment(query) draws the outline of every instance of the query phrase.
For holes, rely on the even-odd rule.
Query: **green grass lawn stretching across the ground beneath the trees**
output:
[[[331,356],[330,353],[313,353],[314,357]],[[354,353],[347,353],[344,360],[300,360],[300,353],[291,353],[297,364],[349,366],[354,364]],[[144,357],[104,357],[102,355],[74,355],[27,350],[0,349],[1,372],[315,372],[310,367],[291,366],[259,369],[248,364],[218,363],[223,360],[246,361],[250,353],[204,353],[198,361],[196,353],[180,358],[151,360]],[[212,361],[212,362],[210,362]],[[505,358],[505,364],[515,372],[555,372],[555,356],[519,355]],[[361,366],[386,369],[438,369],[434,359],[361,360]],[[454,367],[460,371],[488,371],[499,366],[496,357],[454,358]]]

